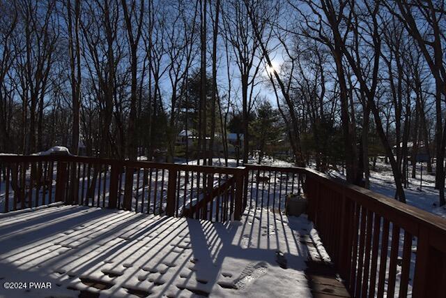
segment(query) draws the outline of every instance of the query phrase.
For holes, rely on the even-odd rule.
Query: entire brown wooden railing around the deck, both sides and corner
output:
[[[445,219],[314,170],[78,156],[0,156],[0,167],[3,212],[59,201],[224,222],[302,194],[353,297],[446,297]]]

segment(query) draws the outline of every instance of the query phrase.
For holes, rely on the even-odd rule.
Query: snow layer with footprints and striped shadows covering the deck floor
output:
[[[0,297],[311,297],[301,237],[324,251],[312,223],[247,210],[226,225],[80,206],[0,215],[1,282],[52,285]]]

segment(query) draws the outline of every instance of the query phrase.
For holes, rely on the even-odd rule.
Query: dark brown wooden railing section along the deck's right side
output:
[[[446,220],[314,170],[308,215],[352,297],[446,297]]]

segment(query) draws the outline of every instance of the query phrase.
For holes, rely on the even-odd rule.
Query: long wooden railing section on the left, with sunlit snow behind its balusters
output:
[[[228,188],[199,204],[196,218],[239,220],[244,168],[117,161],[82,156],[0,156],[1,211],[54,201],[181,216],[225,181]],[[192,215],[191,215],[192,216]]]

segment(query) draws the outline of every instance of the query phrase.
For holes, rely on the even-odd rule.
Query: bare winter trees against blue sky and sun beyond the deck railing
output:
[[[207,165],[280,152],[365,187],[383,155],[402,202],[423,154],[443,205],[445,12],[420,0],[0,0],[0,149],[82,144]]]

